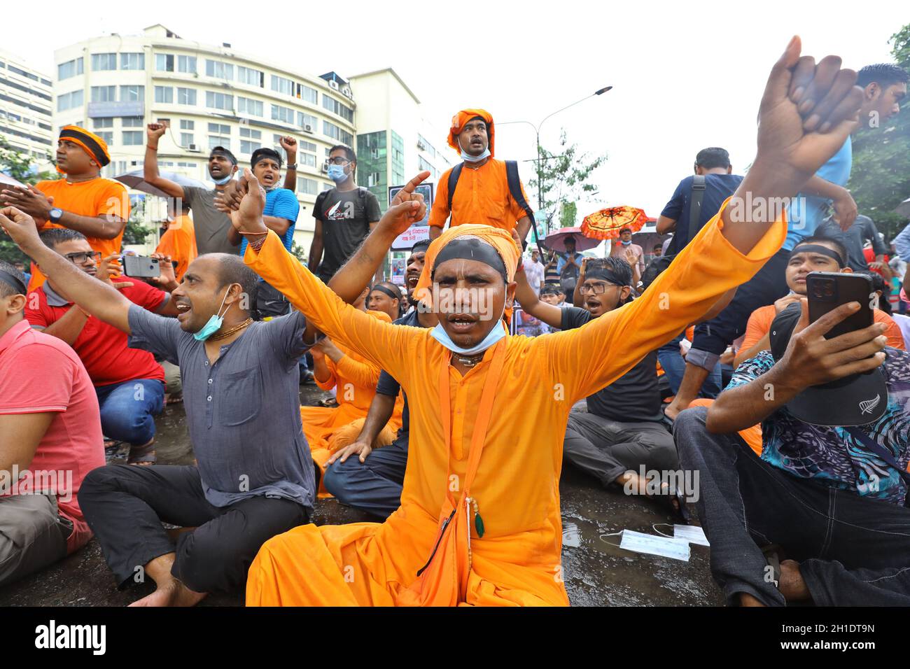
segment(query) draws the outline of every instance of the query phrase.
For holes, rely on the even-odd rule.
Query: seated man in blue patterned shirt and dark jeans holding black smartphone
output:
[[[877,322],[825,339],[855,301],[811,325],[800,301],[712,407],[676,420],[682,466],[701,472],[714,580],[733,604],[906,606],[910,354]],[[761,458],[735,435],[759,421]]]

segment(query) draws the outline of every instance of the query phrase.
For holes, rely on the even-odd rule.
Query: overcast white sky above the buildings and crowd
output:
[[[733,168],[755,146],[755,114],[768,68],[794,34],[804,53],[844,65],[890,61],[888,38],[910,21],[907,3],[559,2],[188,3],[45,0],[41,15],[7,13],[4,47],[50,73],[53,51],[92,35],[138,34],[163,24],[187,39],[229,42],[314,75],[392,66],[440,128],[462,107],[496,121],[538,123],[602,86],[614,89],[552,117],[541,142],[571,140],[609,160],[596,174],[602,204],[656,216],[703,147],[730,151]],[[360,106],[369,100],[358,100]],[[430,138],[430,137],[428,137]],[[444,137],[436,137],[438,148]],[[497,157],[534,157],[526,125],[497,131]],[[456,158],[452,153],[451,157]],[[531,179],[533,165],[524,163]],[[531,195],[533,198],[534,196]]]

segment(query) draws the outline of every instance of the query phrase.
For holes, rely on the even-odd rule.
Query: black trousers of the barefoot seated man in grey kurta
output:
[[[141,582],[146,563],[175,552],[171,573],[197,593],[242,589],[259,547],[308,521],[307,510],[289,500],[214,506],[196,467],[172,465],[99,467],[83,481],[79,506],[120,587]],[[196,529],[175,543],[162,522]]]

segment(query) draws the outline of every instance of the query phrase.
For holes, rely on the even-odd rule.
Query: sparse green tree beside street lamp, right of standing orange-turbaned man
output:
[[[549,216],[552,216],[553,212],[559,211],[560,227],[571,227],[575,225],[578,215],[577,203],[599,188],[591,183],[591,175],[606,162],[607,154],[592,157],[581,151],[578,144],[569,143],[564,129],[556,152],[542,146],[538,147],[538,151],[541,157],[540,178],[535,172],[530,183],[539,194],[541,218],[546,212],[551,212]],[[543,207],[540,207],[540,199]]]

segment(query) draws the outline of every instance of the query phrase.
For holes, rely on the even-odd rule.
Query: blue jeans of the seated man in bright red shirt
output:
[[[101,431],[108,439],[141,446],[155,436],[154,415],[161,413],[165,384],[157,379],[134,379],[96,386],[101,406]]]

